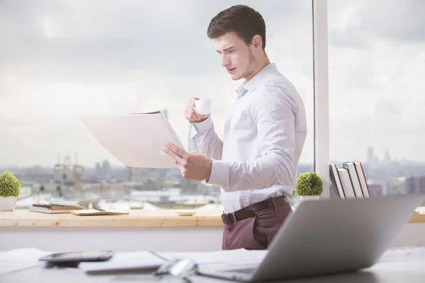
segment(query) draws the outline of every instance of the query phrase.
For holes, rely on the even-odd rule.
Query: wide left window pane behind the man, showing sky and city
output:
[[[50,197],[120,209],[220,206],[218,187],[176,169],[125,168],[77,115],[164,110],[190,148],[183,108],[198,96],[212,99],[222,137],[242,80],[221,69],[206,30],[232,4],[239,2],[1,1],[0,165],[23,183],[17,208]],[[312,171],[312,3],[244,4],[265,18],[266,52],[305,102],[298,173]]]

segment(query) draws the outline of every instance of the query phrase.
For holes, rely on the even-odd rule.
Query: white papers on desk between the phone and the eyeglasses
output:
[[[114,253],[110,260],[103,262],[81,262],[79,269],[87,273],[121,272],[153,270],[164,264],[166,260],[148,251],[131,253]]]

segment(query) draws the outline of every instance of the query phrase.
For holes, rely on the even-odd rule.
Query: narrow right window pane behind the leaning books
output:
[[[424,194],[425,4],[328,8],[331,163],[361,161],[371,195]]]

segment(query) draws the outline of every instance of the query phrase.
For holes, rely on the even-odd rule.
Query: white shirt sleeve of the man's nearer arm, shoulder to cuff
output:
[[[261,156],[228,163],[212,161],[208,183],[226,192],[284,185],[295,173],[295,117],[297,104],[285,89],[263,86],[251,104],[251,116],[258,130]]]

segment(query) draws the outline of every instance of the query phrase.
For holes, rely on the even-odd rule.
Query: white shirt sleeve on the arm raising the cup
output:
[[[221,160],[223,151],[223,141],[218,137],[214,129],[211,115],[207,120],[199,123],[191,123],[191,137],[195,142],[198,151],[208,158]]]

